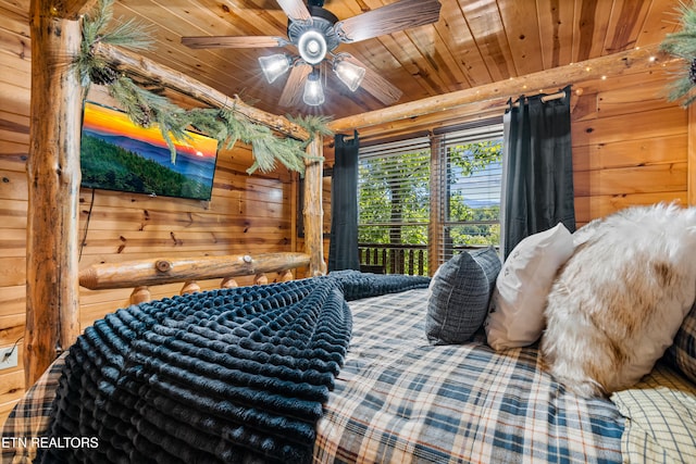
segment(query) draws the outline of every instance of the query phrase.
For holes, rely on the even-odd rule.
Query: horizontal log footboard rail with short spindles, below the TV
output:
[[[306,267],[310,255],[306,253],[232,254],[196,259],[126,261],[112,264],[92,264],[79,273],[79,285],[90,290],[130,288],[133,304],[150,300],[149,286],[184,283],[182,294],[199,291],[197,280],[222,278],[221,288],[237,287],[234,277],[256,276],[254,284],[268,284],[265,273],[282,273],[282,280],[293,280],[290,269]]]

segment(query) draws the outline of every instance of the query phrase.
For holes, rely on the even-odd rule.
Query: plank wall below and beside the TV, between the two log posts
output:
[[[210,202],[83,189],[80,237],[86,238],[80,267],[153,256],[293,251],[291,177],[287,171],[249,176],[245,170],[250,165],[251,154],[246,147],[232,153],[221,151]],[[270,281],[279,280],[277,274],[268,277]],[[250,285],[253,276],[236,280]],[[198,284],[211,289],[217,288],[220,280]],[[153,287],[152,298],[176,294],[181,288],[181,284]],[[83,289],[83,328],[105,312],[127,305],[129,294],[130,289]]]

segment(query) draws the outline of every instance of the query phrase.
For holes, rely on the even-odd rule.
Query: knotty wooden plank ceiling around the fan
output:
[[[394,0],[326,0],[339,20]],[[397,103],[468,89],[634,47],[659,43],[676,28],[679,0],[440,0],[439,21],[356,43],[348,52],[402,91]],[[28,0],[12,2],[25,3]],[[274,114],[334,118],[385,106],[364,88],[350,92],[325,73],[326,101],[278,105],[289,75],[273,84],[257,59],[276,49],[199,49],[186,36],[287,37],[287,16],[276,0],[116,0],[114,17],[151,26],[148,58],[186,73]],[[282,50],[282,49],[281,49]],[[295,47],[288,46],[288,52]]]

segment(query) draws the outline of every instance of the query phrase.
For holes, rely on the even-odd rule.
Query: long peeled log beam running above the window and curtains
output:
[[[627,72],[657,67],[662,65],[666,60],[670,59],[659,53],[657,46],[632,49],[567,66],[343,117],[331,122],[328,127],[335,133],[340,133],[438,113],[483,101],[498,100],[500,103],[505,103],[507,99],[517,98],[521,93],[534,93],[539,89],[558,89],[569,84],[601,78],[605,75],[618,76]]]

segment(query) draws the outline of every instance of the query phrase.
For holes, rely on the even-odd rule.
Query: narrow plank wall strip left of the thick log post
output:
[[[26,12],[0,7],[0,348],[8,348],[24,335],[26,311],[30,43]],[[22,368],[0,371],[0,422],[23,392]]]

